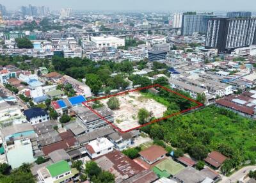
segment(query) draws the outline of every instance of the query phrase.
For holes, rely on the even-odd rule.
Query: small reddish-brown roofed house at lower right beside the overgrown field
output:
[[[225,155],[217,151],[212,151],[205,159],[205,163],[211,165],[212,167],[218,169],[223,164],[223,162],[228,159]]]

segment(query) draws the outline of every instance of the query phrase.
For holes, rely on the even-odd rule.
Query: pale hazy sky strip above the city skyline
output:
[[[105,11],[254,11],[255,0],[0,0],[10,10],[22,5],[49,6],[51,10]]]

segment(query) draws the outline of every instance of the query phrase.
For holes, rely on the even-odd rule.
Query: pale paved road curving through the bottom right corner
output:
[[[230,177],[222,177],[220,183],[236,183],[237,180],[241,179],[244,175],[248,174],[250,170],[254,169],[256,169],[256,166],[245,166],[230,175]]]

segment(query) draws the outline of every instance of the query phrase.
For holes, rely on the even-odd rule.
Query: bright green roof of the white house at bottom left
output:
[[[46,166],[46,168],[49,170],[52,177],[56,177],[58,175],[61,175],[67,171],[70,171],[71,168],[67,161],[59,161],[57,163],[51,164],[49,166]]]

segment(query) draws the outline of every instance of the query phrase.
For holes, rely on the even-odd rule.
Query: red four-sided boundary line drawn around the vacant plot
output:
[[[100,115],[99,113],[97,113],[97,111],[95,111],[94,109],[92,109],[92,107],[88,106],[86,103],[88,102],[94,102],[95,100],[102,100],[102,99],[108,99],[110,97],[115,97],[115,96],[118,96],[118,95],[123,95],[123,94],[127,94],[127,93],[130,93],[130,92],[136,92],[136,91],[140,91],[140,90],[145,90],[145,89],[148,89],[148,88],[155,88],[155,87],[159,87],[159,88],[163,88],[164,90],[170,92],[170,93],[175,93],[176,95],[179,95],[180,97],[184,98],[184,99],[187,99],[191,102],[194,102],[196,104],[198,104],[197,106],[195,107],[191,107],[189,109],[185,109],[183,111],[179,111],[177,113],[173,113],[172,115],[168,115],[168,116],[164,116],[163,118],[157,118],[155,120],[152,120],[151,122],[148,122],[148,123],[145,123],[143,125],[140,125],[138,127],[134,127],[132,129],[129,129],[127,131],[122,131],[120,128],[116,127],[116,125],[114,125],[113,123],[109,122],[106,118],[104,118],[102,115]],[[147,125],[150,125],[151,123],[156,123],[156,122],[159,122],[161,120],[166,120],[168,118],[171,118],[172,116],[175,116],[175,115],[179,115],[179,114],[182,114],[182,113],[186,113],[188,111],[191,111],[192,109],[196,109],[198,107],[202,107],[204,106],[204,104],[201,104],[200,102],[196,101],[196,100],[193,100],[193,99],[190,99],[178,92],[175,92],[173,90],[170,90],[169,88],[166,88],[164,86],[161,86],[160,84],[154,84],[154,85],[151,85],[151,86],[145,86],[145,87],[141,87],[141,88],[135,88],[133,90],[127,90],[127,91],[124,91],[124,92],[120,92],[120,93],[115,93],[113,95],[107,95],[107,96],[104,96],[104,97],[99,97],[99,98],[96,98],[96,99],[92,99],[92,100],[87,100],[86,102],[83,102],[83,105],[85,107],[87,107],[88,109],[90,109],[93,113],[95,113],[95,115],[99,116],[100,119],[104,120],[105,122],[107,122],[109,125],[111,125],[114,129],[118,130],[119,132],[121,133],[125,133],[125,132],[129,132],[129,131],[133,131],[134,129],[139,129],[140,127],[145,127]]]

